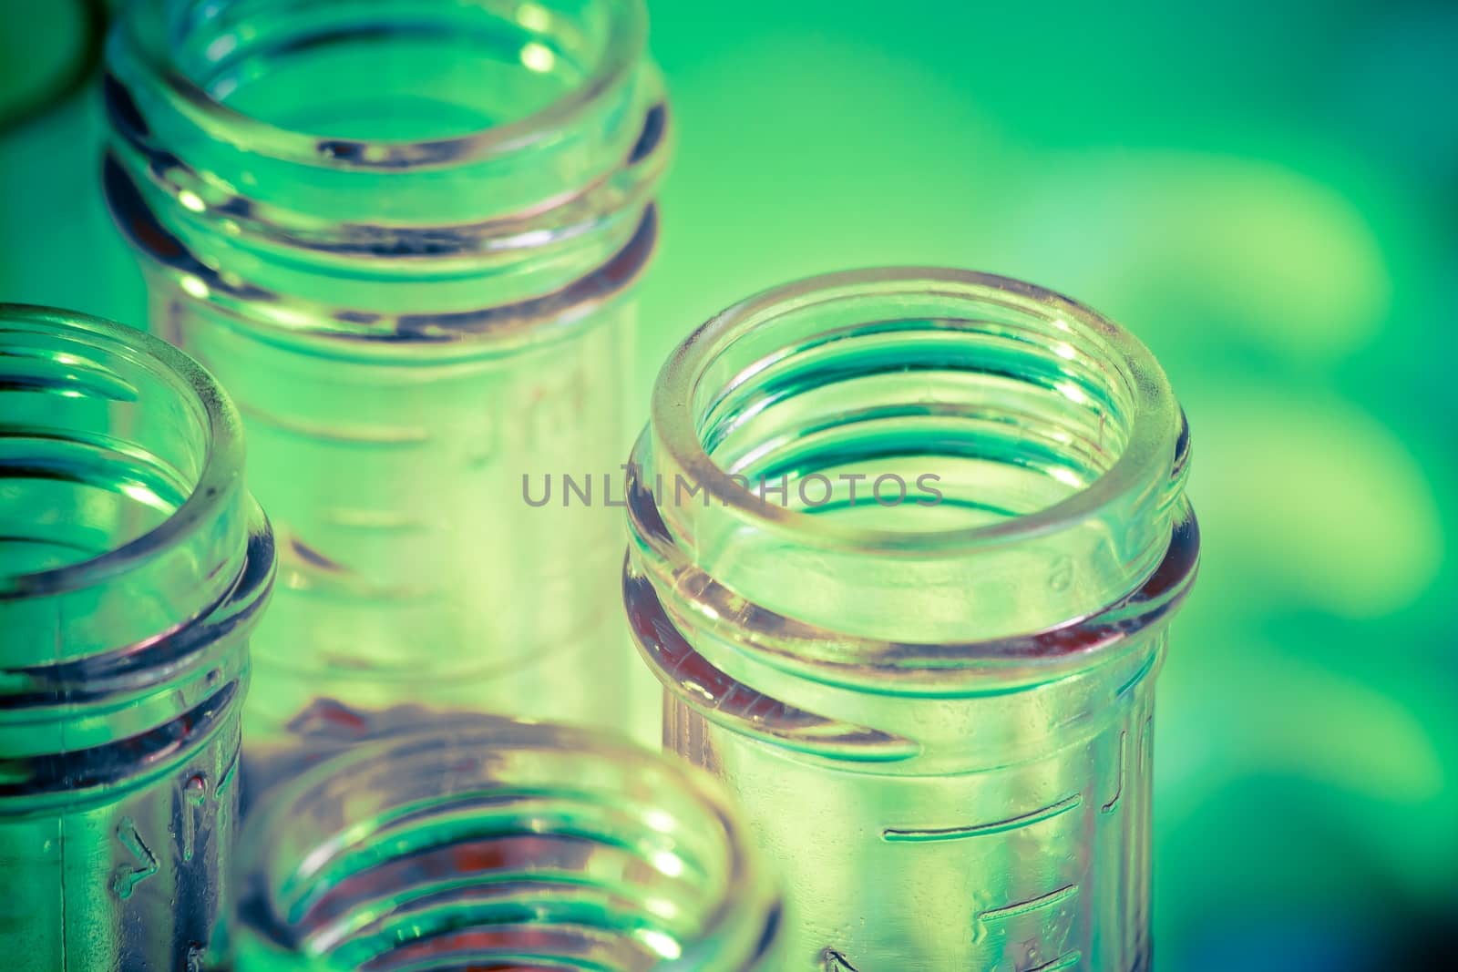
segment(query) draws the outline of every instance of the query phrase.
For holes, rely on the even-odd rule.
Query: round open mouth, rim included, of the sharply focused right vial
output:
[[[663,367],[652,431],[688,481],[662,485],[678,491],[659,497],[665,519],[723,507],[872,552],[1053,533],[1163,498],[1182,465],[1178,405],[1137,340],[1061,294],[937,268],[831,274],[735,305]]]

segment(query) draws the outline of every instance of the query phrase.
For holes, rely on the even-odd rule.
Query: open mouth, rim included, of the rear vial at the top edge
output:
[[[634,0],[144,0],[118,36],[211,137],[388,171],[551,138],[631,74],[646,15]]]

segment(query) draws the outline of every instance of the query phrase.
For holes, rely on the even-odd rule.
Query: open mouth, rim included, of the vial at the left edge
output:
[[[241,552],[242,533],[213,536],[220,517],[243,529],[225,517],[241,509],[239,418],[172,345],[71,310],[0,305],[0,606],[95,587],[194,542],[203,589]]]

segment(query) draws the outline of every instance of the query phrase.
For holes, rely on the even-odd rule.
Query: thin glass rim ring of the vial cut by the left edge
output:
[[[201,364],[159,337],[105,318],[42,305],[0,303],[0,337],[6,331],[79,334],[102,344],[190,396],[206,436],[197,482],[187,500],[160,523],[104,554],[73,564],[20,574],[0,574],[0,599],[22,599],[83,590],[147,563],[208,529],[235,501],[243,469],[243,434],[238,409]],[[3,350],[3,341],[0,341]]]

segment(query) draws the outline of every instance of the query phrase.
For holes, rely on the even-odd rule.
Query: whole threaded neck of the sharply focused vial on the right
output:
[[[630,624],[739,733],[886,772],[1026,758],[1158,666],[1197,561],[1187,468],[1163,373],[1088,307],[946,270],[793,284],[659,376]]]

